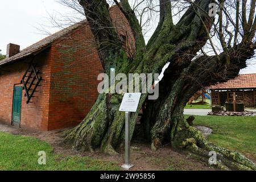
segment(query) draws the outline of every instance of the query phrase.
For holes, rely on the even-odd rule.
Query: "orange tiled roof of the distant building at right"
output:
[[[256,73],[238,75],[233,80],[229,80],[225,83],[218,83],[212,85],[209,89],[249,89],[256,88]]]

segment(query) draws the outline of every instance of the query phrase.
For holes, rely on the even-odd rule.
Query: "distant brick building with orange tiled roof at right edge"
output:
[[[256,74],[238,75],[233,80],[210,86],[212,105],[224,106],[226,102],[237,103],[246,107],[256,107]]]

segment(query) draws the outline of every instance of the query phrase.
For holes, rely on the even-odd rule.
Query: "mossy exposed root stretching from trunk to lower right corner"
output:
[[[224,170],[256,170],[251,160],[242,154],[210,143],[201,132],[192,126],[185,125],[177,132],[172,146],[179,150],[187,150],[200,160],[208,162],[209,152],[217,154],[216,167]]]

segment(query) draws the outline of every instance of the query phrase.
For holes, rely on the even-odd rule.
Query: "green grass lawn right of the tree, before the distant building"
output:
[[[188,115],[185,116],[186,118]],[[212,143],[256,159],[256,117],[195,116],[195,125],[213,129]]]

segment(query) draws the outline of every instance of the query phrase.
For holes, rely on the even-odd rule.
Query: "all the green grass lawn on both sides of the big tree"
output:
[[[188,117],[188,115],[185,115]],[[195,125],[213,129],[210,142],[256,159],[256,117],[196,116]],[[46,152],[46,165],[38,164],[38,152]],[[183,163],[168,168],[182,168]],[[0,132],[0,170],[120,170],[117,163],[81,155],[53,153],[50,144],[33,138]]]

